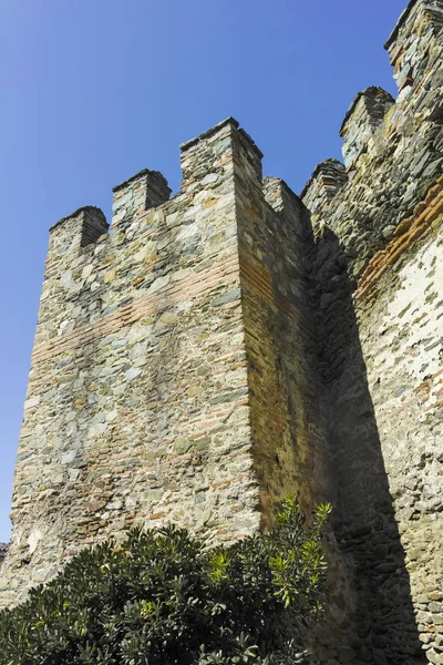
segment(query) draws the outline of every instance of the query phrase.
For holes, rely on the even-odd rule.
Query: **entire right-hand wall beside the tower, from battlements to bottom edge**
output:
[[[360,93],[342,125],[348,180],[326,161],[302,193],[357,627],[332,662],[443,663],[442,25],[440,0],[409,4],[387,44],[395,103]]]

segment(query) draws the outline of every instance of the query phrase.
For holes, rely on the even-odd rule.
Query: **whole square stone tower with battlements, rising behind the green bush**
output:
[[[155,171],[115,187],[110,233],[93,207],[51,229],[3,604],[133,524],[230,541],[322,492],[308,217],[233,119],[182,168],[171,200]]]

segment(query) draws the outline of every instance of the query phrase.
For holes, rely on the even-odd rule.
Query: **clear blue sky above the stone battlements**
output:
[[[266,175],[299,192],[340,157],[368,85],[395,94],[383,43],[406,0],[1,0],[0,541],[48,228],[144,167],[179,188],[178,144],[234,115]]]

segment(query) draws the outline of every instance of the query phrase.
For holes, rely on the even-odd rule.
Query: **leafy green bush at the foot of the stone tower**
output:
[[[295,626],[322,611],[329,512],[306,526],[287,499],[271,532],[209,551],[174,526],[83,550],[0,613],[0,665],[301,662]]]

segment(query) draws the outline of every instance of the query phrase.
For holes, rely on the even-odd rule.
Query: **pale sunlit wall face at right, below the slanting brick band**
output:
[[[429,232],[398,259],[395,273],[387,273],[377,285],[375,299],[363,299],[358,307],[368,383],[420,641],[431,659],[434,646],[440,654],[443,640],[442,219],[443,205]],[[375,583],[387,590],[385,606],[389,587],[395,587],[399,575],[398,561],[390,548],[375,569]],[[400,601],[404,608],[405,602],[400,605]],[[399,632],[403,645],[405,637]]]

